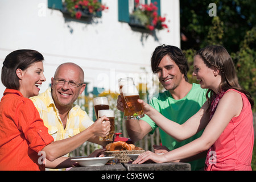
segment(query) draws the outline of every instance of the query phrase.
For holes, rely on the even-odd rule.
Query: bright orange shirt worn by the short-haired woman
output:
[[[0,170],[44,170],[38,152],[51,142],[33,102],[6,89],[0,102]]]

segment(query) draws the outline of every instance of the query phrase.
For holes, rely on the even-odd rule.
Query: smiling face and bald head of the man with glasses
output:
[[[85,84],[80,85],[79,87],[72,87],[68,84],[69,82],[75,82],[80,84],[84,82],[84,73],[81,71],[77,65],[68,63],[63,64],[55,73],[55,79],[65,80],[65,84],[61,85],[52,78],[52,98],[55,102],[57,109],[61,108],[70,108],[73,105],[73,102],[77,100],[79,94],[81,94],[85,89]]]

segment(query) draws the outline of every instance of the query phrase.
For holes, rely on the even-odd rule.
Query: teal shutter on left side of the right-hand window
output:
[[[130,22],[129,0],[118,0],[118,21]]]

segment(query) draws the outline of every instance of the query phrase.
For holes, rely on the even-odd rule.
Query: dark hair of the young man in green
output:
[[[152,72],[156,72],[156,68],[160,64],[160,61],[166,55],[170,56],[171,59],[177,64],[177,66],[180,69],[180,72],[184,74],[185,81],[188,81],[188,61],[183,52],[181,51],[181,49],[175,46],[166,46],[165,44],[163,44],[162,46],[158,46],[155,48],[155,51],[153,52],[151,57]]]

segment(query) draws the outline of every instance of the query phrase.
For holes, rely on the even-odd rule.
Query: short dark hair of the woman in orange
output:
[[[19,90],[19,78],[16,69],[25,70],[31,64],[43,61],[44,57],[38,51],[20,49],[9,53],[3,61],[1,81],[8,89]]]

